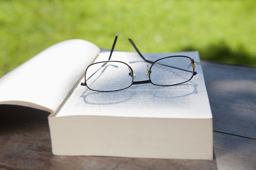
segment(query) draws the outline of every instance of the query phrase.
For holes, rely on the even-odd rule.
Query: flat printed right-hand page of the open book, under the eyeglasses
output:
[[[186,55],[200,62],[197,51],[144,55],[150,61],[166,56]],[[95,62],[107,61],[108,56],[109,52],[100,53]],[[146,71],[147,65],[150,67],[151,64],[144,62],[137,53],[115,51],[111,60],[122,61],[131,66],[136,73],[134,81],[149,80]],[[120,91],[97,92],[88,89],[86,86],[78,85],[56,117],[93,115],[211,119],[212,114],[201,66],[196,65],[195,71],[197,71],[197,75],[191,81],[174,86],[157,86],[149,83],[132,85]],[[161,72],[159,72],[159,75],[165,76]],[[111,79],[111,75],[108,76]],[[84,80],[81,82],[84,82]]]

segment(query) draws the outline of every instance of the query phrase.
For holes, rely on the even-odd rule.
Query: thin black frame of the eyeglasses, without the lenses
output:
[[[182,69],[182,68],[177,68],[177,69],[181,69],[181,70],[184,70],[184,71],[187,71],[187,72],[191,72],[191,73],[192,73],[192,76],[191,76],[190,79],[186,80],[185,82],[177,83],[177,84],[174,84],[174,85],[180,85],[180,84],[186,83],[186,82],[190,81],[190,80],[194,77],[194,75],[197,75],[197,72],[195,71],[195,64],[194,64],[194,59],[193,59],[193,58],[188,57],[188,56],[185,56],[185,55],[174,55],[174,56],[163,57],[163,58],[160,58],[160,59],[158,59],[158,60],[156,60],[156,61],[153,62],[153,61],[147,60],[147,59],[138,51],[138,48],[136,47],[136,45],[134,44],[134,42],[132,41],[132,39],[129,37],[128,39],[129,39],[130,43],[132,44],[132,46],[134,47],[134,49],[138,52],[139,56],[140,56],[145,62],[151,63],[151,66],[150,66],[150,68],[149,68],[149,70],[148,70],[149,80],[136,81],[136,82],[135,82],[135,81],[134,81],[135,72],[134,72],[134,70],[132,69],[131,66],[129,66],[128,64],[126,64],[126,63],[124,63],[124,62],[122,62],[122,61],[110,61],[111,56],[112,56],[112,53],[113,53],[114,48],[115,48],[115,45],[116,45],[116,42],[117,42],[117,38],[118,38],[118,35],[116,35],[116,37],[115,37],[115,41],[114,41],[114,43],[113,43],[113,46],[112,46],[112,49],[111,49],[111,52],[110,52],[110,56],[109,56],[109,58],[108,58],[108,61],[101,61],[101,62],[97,62],[97,63],[90,64],[90,65],[86,68],[86,70],[85,70],[85,74],[84,74],[84,83],[81,83],[80,85],[87,86],[87,84],[86,84],[86,72],[87,72],[87,69],[88,69],[90,66],[95,65],[95,64],[99,64],[99,63],[105,63],[105,64],[103,64],[103,65],[105,66],[108,62],[119,62],[119,63],[123,63],[123,64],[125,64],[126,66],[128,66],[128,68],[132,71],[132,74],[131,74],[131,76],[132,76],[132,83],[131,83],[131,85],[129,85],[128,87],[122,88],[122,89],[118,89],[118,90],[94,90],[94,89],[91,89],[89,86],[87,86],[87,88],[89,88],[90,90],[93,90],[93,91],[98,91],[98,92],[113,92],[113,91],[124,90],[124,89],[126,89],[126,88],[131,87],[132,85],[140,85],[140,84],[148,84],[148,83],[151,83],[151,84],[153,84],[153,85],[156,85],[156,84],[152,83],[152,81],[151,81],[151,79],[150,79],[151,68],[152,68],[152,67],[154,66],[154,64],[157,63],[159,60],[166,59],[166,58],[172,58],[172,57],[186,57],[186,58],[189,58],[189,59],[191,60],[192,66],[193,66],[193,71],[185,70],[185,69]],[[103,65],[102,65],[102,67],[104,67]],[[163,65],[163,64],[161,64],[161,65]],[[167,66],[167,65],[163,65],[163,66]],[[101,67],[101,68],[102,68],[102,67]],[[176,67],[172,67],[172,66],[167,66],[167,67],[176,68]],[[98,69],[98,70],[99,70],[99,69]],[[98,70],[97,70],[97,71],[98,71]],[[96,72],[97,72],[97,71],[96,71]],[[96,72],[95,72],[95,73],[96,73]],[[94,73],[94,74],[95,74],[95,73]],[[94,74],[93,74],[93,75],[94,75]],[[92,75],[91,75],[91,76],[92,76]],[[91,77],[91,76],[90,76],[90,77]],[[89,77],[89,78],[90,78],[90,77]],[[88,80],[88,79],[87,79],[87,80]],[[173,85],[157,85],[157,86],[173,86]]]

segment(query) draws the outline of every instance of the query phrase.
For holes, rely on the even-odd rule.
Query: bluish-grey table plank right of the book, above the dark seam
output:
[[[203,62],[214,130],[256,138],[256,68]]]

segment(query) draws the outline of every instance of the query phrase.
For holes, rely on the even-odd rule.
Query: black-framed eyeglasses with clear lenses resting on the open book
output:
[[[108,61],[97,62],[89,65],[85,70],[84,83],[93,91],[110,92],[129,88],[131,85],[151,83],[158,86],[179,85],[190,81],[194,75],[195,64],[193,58],[183,55],[168,56],[156,61],[147,60],[136,47],[131,38],[128,38],[138,55],[151,66],[147,65],[145,81],[134,81],[136,74],[126,63],[121,61],[110,61],[114,51],[118,35],[116,35],[110,51]]]

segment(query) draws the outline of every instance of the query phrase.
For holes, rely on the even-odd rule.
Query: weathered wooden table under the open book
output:
[[[213,113],[213,161],[55,156],[49,113],[0,105],[0,169],[256,170],[256,68],[202,66]]]

